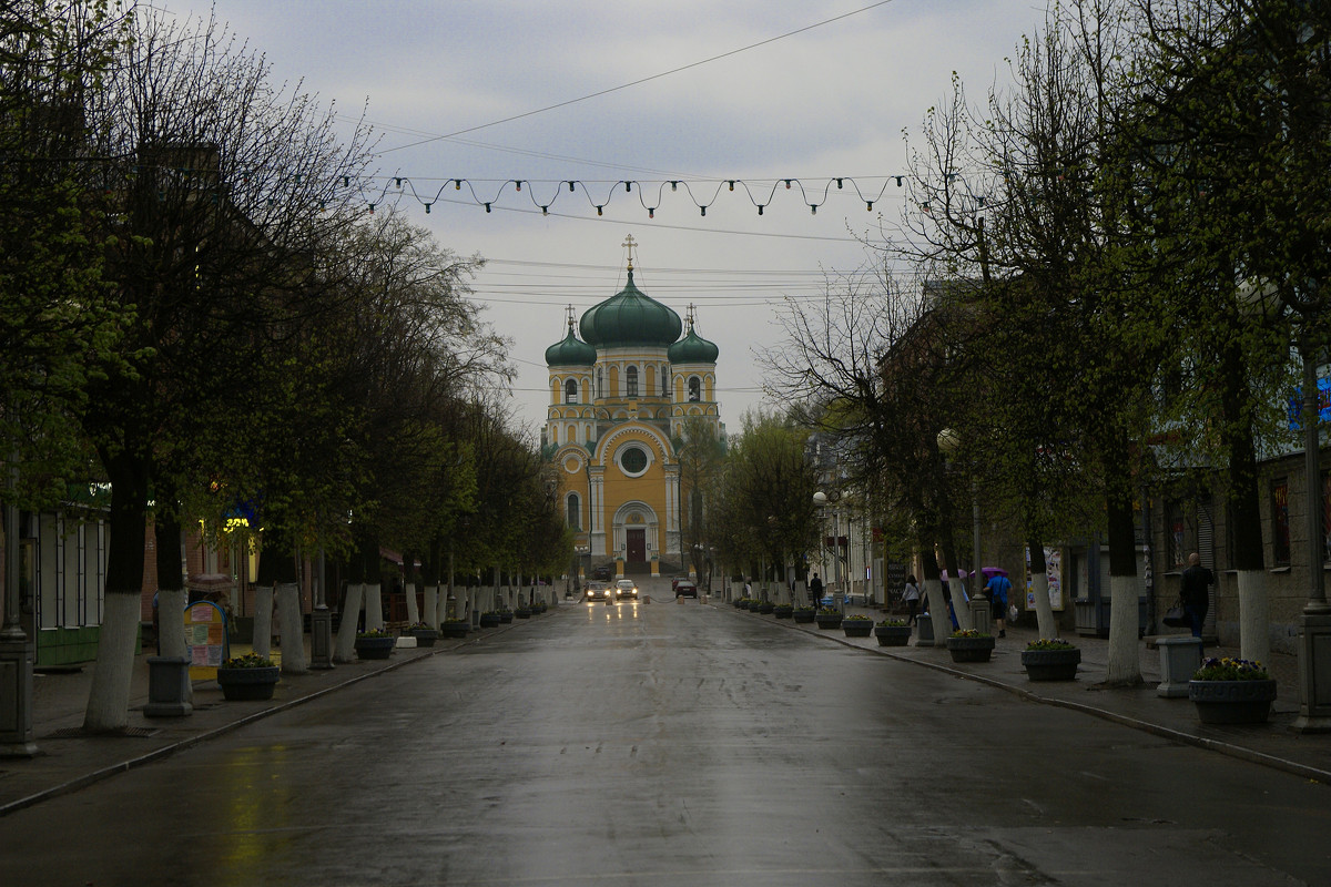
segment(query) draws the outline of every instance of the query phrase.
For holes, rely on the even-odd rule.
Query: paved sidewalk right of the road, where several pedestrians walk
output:
[[[733,609],[729,604],[719,608]],[[744,610],[733,610],[736,616],[773,620],[771,616],[756,616]],[[847,614],[862,613],[874,620],[884,618],[878,609],[848,606]],[[1034,618],[1034,617],[1029,617]],[[1211,726],[1202,725],[1195,707],[1187,698],[1166,698],[1157,694],[1161,682],[1161,654],[1153,648],[1150,638],[1138,642],[1143,684],[1137,688],[1105,686],[1109,673],[1109,640],[1098,637],[1067,637],[1066,641],[1081,648],[1082,662],[1075,681],[1038,681],[1026,677],[1021,665],[1021,652],[1026,644],[1040,637],[1033,625],[1018,625],[1008,629],[1008,636],[997,638],[993,657],[989,662],[957,664],[946,648],[878,646],[877,638],[849,638],[840,630],[823,630],[817,625],[797,625],[789,620],[773,620],[779,625],[795,630],[811,632],[847,646],[861,648],[881,656],[956,674],[958,678],[981,681],[992,686],[1016,693],[1032,702],[1057,705],[1082,711],[1106,721],[1113,721],[1154,735],[1219,751],[1242,761],[1260,763],[1283,770],[1306,779],[1331,785],[1331,734],[1296,734],[1291,725],[1299,714],[1298,661],[1292,656],[1275,653],[1267,670],[1276,680],[1278,696],[1271,706],[1271,719],[1266,725],[1251,726]],[[1234,656],[1239,652],[1229,648],[1207,646],[1206,656]]]

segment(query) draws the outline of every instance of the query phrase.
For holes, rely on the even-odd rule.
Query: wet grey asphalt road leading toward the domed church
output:
[[[1328,789],[728,606],[564,606],[0,821],[0,884],[1328,883]]]

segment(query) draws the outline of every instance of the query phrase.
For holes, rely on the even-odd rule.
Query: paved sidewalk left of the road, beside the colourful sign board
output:
[[[0,818],[427,656],[446,653],[463,644],[483,644],[514,626],[479,629],[462,641],[439,638],[430,648],[398,648],[387,660],[357,660],[306,674],[284,674],[273,698],[264,702],[228,702],[217,681],[196,681],[193,713],[169,718],[144,717],[148,657],[156,656],[145,652],[134,661],[129,723],[124,735],[87,735],[81,731],[92,686],[92,662],[77,670],[39,673],[33,677],[32,703],[37,754],[33,758],[0,758]],[[305,645],[309,661],[309,637]],[[232,645],[232,654],[241,656],[250,649],[236,644]],[[273,660],[280,661],[280,654],[281,649],[274,648]]]

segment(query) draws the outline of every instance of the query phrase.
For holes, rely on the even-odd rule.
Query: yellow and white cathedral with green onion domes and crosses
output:
[[[680,569],[676,442],[693,418],[724,435],[716,402],[716,344],[634,283],[574,319],[546,348],[550,410],[543,449],[584,564],[616,576]],[[580,334],[580,338],[579,338]],[[683,334],[683,335],[681,335]],[[695,419],[696,420],[696,419]]]

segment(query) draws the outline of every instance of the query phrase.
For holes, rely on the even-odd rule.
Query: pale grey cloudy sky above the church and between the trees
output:
[[[953,72],[972,101],[1002,88],[1044,19],[1032,0],[153,1],[213,9],[274,80],[302,80],[347,126],[363,109],[379,199],[488,261],[475,298],[512,340],[511,403],[532,432],[544,348],[567,306],[580,315],[622,289],[628,234],[638,286],[680,317],[696,306],[720,347],[737,430],[763,404],[756,355],[783,342],[784,299],[817,297],[824,273],[865,262],[857,237],[900,219],[902,132],[918,134]]]

